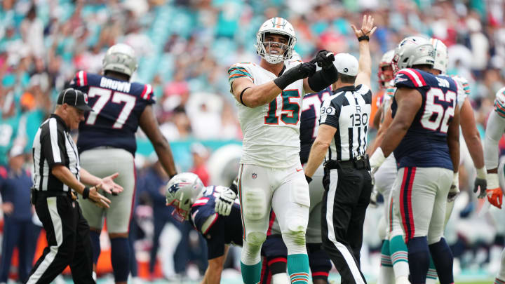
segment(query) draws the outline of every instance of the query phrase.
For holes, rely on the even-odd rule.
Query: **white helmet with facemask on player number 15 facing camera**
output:
[[[284,52],[281,54],[271,54],[267,53],[267,48],[269,42],[265,42],[265,34],[282,34],[284,36],[288,36],[288,44],[281,44],[281,47],[284,49]],[[288,60],[292,57],[293,48],[295,48],[296,44],[296,35],[295,29],[293,29],[292,25],[288,20],[284,18],[275,17],[267,20],[263,23],[256,34],[256,53],[260,55],[264,60],[271,64],[277,64],[279,62],[283,62],[284,60]]]

